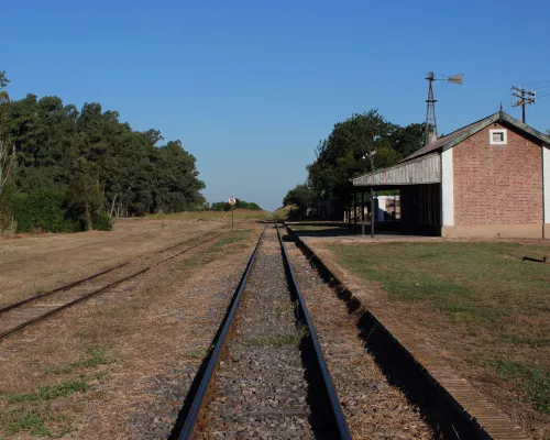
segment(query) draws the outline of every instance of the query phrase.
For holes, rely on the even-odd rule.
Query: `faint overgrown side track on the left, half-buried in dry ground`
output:
[[[226,232],[208,232],[180,241],[153,254],[120,263],[64,286],[0,307],[0,340],[216,240],[223,233]]]

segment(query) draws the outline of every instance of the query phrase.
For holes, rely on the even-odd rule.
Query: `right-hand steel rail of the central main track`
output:
[[[309,331],[309,337],[311,339],[311,343],[315,349],[315,353],[317,356],[317,364],[319,365],[319,370],[321,372],[322,378],[323,378],[323,385],[330,402],[330,409],[331,413],[334,417],[334,421],[337,424],[338,428],[338,433],[339,438],[342,440],[351,440],[351,433],[350,433],[350,428],[348,427],[348,422],[345,420],[345,416],[342,410],[342,406],[340,405],[340,399],[338,398],[337,391],[334,388],[334,384],[332,383],[332,378],[330,376],[329,367],[327,365],[327,361],[324,360],[324,355],[322,354],[321,350],[321,344],[319,343],[319,340],[317,338],[317,332],[315,331],[315,326],[314,321],[311,320],[311,316],[309,315],[309,311],[306,306],[306,301],[304,299],[304,296],[301,295],[300,287],[298,286],[298,282],[296,280],[296,276],[294,274],[293,266],[290,264],[290,258],[288,257],[288,254],[286,253],[286,248],[283,242],[283,237],[280,235],[280,231],[278,229],[277,223],[275,223],[275,228],[277,229],[277,235],[278,240],[280,243],[280,249],[283,250],[283,256],[285,261],[285,265],[287,267],[288,274],[292,279],[293,288],[296,292],[296,295],[299,300],[299,306],[301,309],[301,314],[304,317],[304,320],[306,321],[306,324],[308,327]]]

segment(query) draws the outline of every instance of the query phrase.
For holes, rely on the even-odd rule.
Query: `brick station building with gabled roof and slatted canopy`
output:
[[[550,138],[502,111],[352,186],[399,189],[404,232],[550,239]]]

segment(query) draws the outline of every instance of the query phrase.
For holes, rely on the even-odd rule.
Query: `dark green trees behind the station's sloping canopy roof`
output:
[[[425,124],[399,127],[387,121],[377,110],[354,113],[334,124],[328,138],[316,148],[316,160],[307,165],[307,179],[290,189],[283,205],[296,206],[296,213],[304,215],[318,198],[336,204],[343,210],[346,191],[343,186],[352,177],[385,168],[424,146]],[[373,164],[367,160],[373,152]]]

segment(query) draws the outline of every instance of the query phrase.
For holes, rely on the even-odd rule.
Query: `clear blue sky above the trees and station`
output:
[[[306,178],[332,125],[377,108],[422,122],[429,70],[439,131],[512,109],[539,84],[527,122],[550,129],[550,3],[517,1],[11,1],[0,70],[12,99],[100,102],[197,157],[209,201],[275,209]]]

